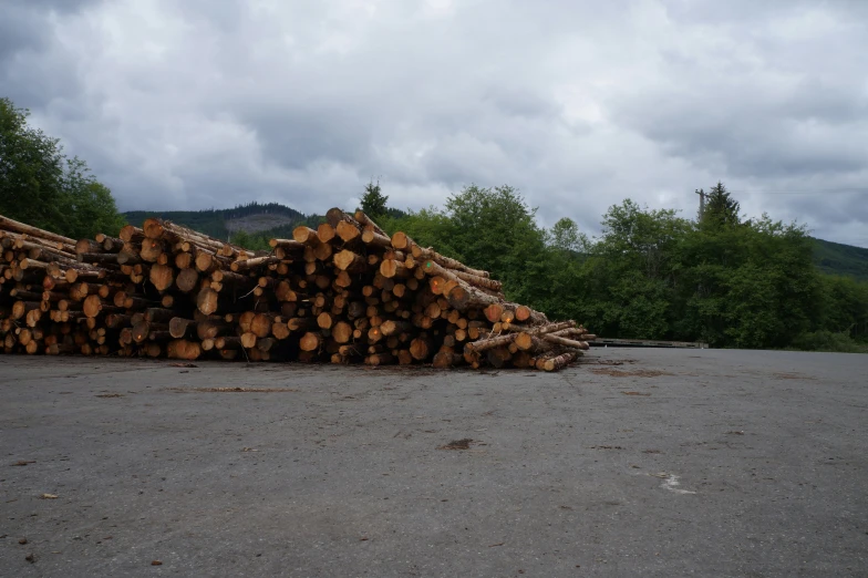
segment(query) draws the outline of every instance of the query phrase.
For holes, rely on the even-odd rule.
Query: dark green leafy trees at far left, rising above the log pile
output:
[[[72,238],[116,235],[125,221],[108,188],[28,116],[0,99],[0,214]]]

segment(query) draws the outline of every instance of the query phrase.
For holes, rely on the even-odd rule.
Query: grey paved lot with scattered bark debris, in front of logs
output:
[[[868,355],[196,365],[0,355],[0,576],[868,575]]]

